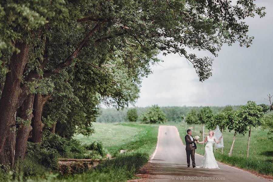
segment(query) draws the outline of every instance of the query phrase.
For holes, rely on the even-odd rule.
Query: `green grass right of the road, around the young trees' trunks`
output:
[[[184,136],[187,133],[187,129],[191,129],[193,135],[201,136],[201,125],[195,125],[193,131],[193,125],[185,126],[183,124],[174,124],[180,134],[180,137],[185,144]],[[208,130],[205,129],[205,135],[208,135]],[[266,141],[266,132],[261,130],[261,128],[254,128],[251,130],[251,139],[250,139],[250,151],[249,157],[246,158],[247,152],[247,141],[248,135],[242,136],[238,135],[235,138],[235,143],[232,151],[232,156],[229,157],[228,153],[231,148],[234,132],[224,131],[224,153],[221,153],[221,149],[217,149],[214,152],[216,160],[229,164],[231,166],[240,167],[247,170],[254,170],[260,174],[273,175],[273,163],[272,163],[272,141]],[[199,140],[201,141],[201,140]],[[205,144],[204,144],[205,146]],[[204,155],[204,148],[202,144],[197,144],[197,150],[195,151],[198,154]]]

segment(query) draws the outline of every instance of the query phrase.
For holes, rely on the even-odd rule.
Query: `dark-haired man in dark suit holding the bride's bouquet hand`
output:
[[[192,161],[192,167],[195,167],[195,158],[194,153],[195,149],[197,149],[197,146],[195,144],[195,140],[191,136],[191,130],[187,130],[187,135],[185,136],[185,142],[186,142],[186,153],[187,153],[187,164],[188,167],[190,167],[190,157]]]

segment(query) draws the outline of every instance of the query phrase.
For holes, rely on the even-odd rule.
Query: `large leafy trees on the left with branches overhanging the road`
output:
[[[0,163],[23,159],[28,138],[39,143],[45,127],[92,133],[98,104],[134,103],[159,51],[179,53],[204,81],[212,59],[185,48],[217,56],[223,43],[248,47],[242,20],[265,15],[254,0],[166,2],[1,1]]]

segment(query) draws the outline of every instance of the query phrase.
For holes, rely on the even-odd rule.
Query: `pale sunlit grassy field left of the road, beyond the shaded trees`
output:
[[[159,125],[141,123],[93,123],[92,136],[76,135],[83,143],[102,142],[104,149],[116,156],[120,150],[148,153],[151,155],[157,144]]]

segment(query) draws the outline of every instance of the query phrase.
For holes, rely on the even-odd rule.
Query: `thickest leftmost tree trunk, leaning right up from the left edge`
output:
[[[22,92],[20,78],[29,56],[29,45],[26,42],[17,42],[15,47],[20,49],[20,53],[14,52],[12,54],[9,65],[10,71],[6,74],[5,85],[0,99],[0,152],[3,149],[8,131],[15,124],[14,113],[17,110],[18,97]]]

